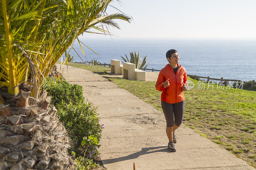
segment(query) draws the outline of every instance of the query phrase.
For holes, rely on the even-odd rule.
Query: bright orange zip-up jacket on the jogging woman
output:
[[[184,100],[184,93],[181,88],[183,85],[182,83],[185,83],[188,88],[188,77],[187,72],[184,67],[181,65],[178,65],[178,70],[175,75],[174,71],[170,67],[169,64],[167,64],[159,73],[157,81],[156,81],[156,90],[162,92],[161,94],[161,101],[167,102],[167,103],[178,103],[182,100]],[[163,87],[164,82],[169,78],[169,87]]]

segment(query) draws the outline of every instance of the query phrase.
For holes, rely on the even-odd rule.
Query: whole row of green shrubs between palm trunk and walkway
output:
[[[84,102],[82,86],[70,85],[61,75],[54,79],[46,78],[42,89],[52,96],[51,104],[57,108],[60,122],[73,140],[70,154],[75,156],[76,168],[97,168],[99,164],[93,160],[99,155],[96,147],[100,147],[99,140],[104,129],[104,124],[99,124],[97,107]]]

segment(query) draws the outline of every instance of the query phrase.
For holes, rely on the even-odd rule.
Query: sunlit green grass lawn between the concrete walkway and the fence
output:
[[[84,67],[76,63],[70,63],[70,65]],[[104,74],[104,71],[109,71],[110,68],[91,66],[91,70]],[[130,81],[123,78],[109,79],[120,88],[128,90],[162,111],[161,92],[155,89],[156,82]],[[255,167],[256,91],[227,87],[217,89],[217,85],[214,85],[213,89],[212,87],[207,89],[207,84],[204,89],[198,89],[201,82],[191,78],[189,80],[193,81],[195,87],[184,92],[183,124]]]

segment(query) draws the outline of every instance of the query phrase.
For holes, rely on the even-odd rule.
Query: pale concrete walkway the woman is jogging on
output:
[[[69,79],[66,67],[63,76],[69,83],[83,86],[84,97],[98,106],[105,124],[100,155],[107,170],[132,170],[133,162],[136,170],[254,169],[183,125],[175,131],[177,152],[169,152],[162,112],[98,74],[68,68]]]

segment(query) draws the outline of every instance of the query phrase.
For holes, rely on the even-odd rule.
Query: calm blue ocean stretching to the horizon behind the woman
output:
[[[168,63],[165,57],[169,49],[176,49],[180,65],[187,74],[210,78],[256,80],[256,40],[177,40],[177,39],[81,39],[88,61],[96,59],[100,63],[110,63],[111,59],[121,60],[124,54],[130,59],[130,52],[140,52],[140,58],[147,55],[148,69],[161,70]],[[77,42],[73,47],[80,57],[87,61]],[[74,50],[74,62],[82,62]],[[125,57],[126,58],[126,57]]]

